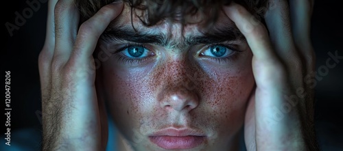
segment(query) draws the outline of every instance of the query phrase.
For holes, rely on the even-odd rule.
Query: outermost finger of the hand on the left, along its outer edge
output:
[[[40,77],[40,88],[42,92],[42,100],[47,100],[51,85],[50,72],[51,60],[54,55],[55,48],[55,34],[54,34],[54,8],[58,0],[51,0],[48,2],[47,10],[47,29],[45,33],[45,43],[43,49],[38,56],[38,70]]]

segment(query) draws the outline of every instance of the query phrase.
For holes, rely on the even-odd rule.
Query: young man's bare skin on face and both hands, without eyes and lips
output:
[[[121,18],[121,13],[127,13],[123,3],[104,6],[78,27],[73,1],[56,2],[49,1],[47,37],[38,60],[43,150],[105,150],[104,100],[119,131],[137,150],[142,146],[161,150],[147,135],[170,125],[206,134],[206,143],[193,150],[236,149],[232,144],[243,122],[248,150],[318,150],[309,124],[313,90],[304,80],[314,70],[315,58],[309,30],[304,30],[309,29],[304,18],[311,16],[310,1],[289,1],[290,8],[287,1],[275,2],[265,14],[267,27],[252,22],[252,15],[240,5],[223,7],[220,17],[232,20],[246,38],[246,42],[234,42],[242,52],[224,65],[200,57],[202,46],[185,51],[152,44],[156,55],[144,64],[125,66],[117,53],[99,70],[91,63],[95,48],[106,44],[101,40],[98,44],[101,34],[115,19],[116,25],[130,24]],[[199,30],[191,25],[181,32],[180,25],[168,23],[151,29],[167,34],[174,44]],[[300,88],[298,101],[285,98],[299,94]],[[282,118],[275,118],[279,113],[275,109],[283,109]]]

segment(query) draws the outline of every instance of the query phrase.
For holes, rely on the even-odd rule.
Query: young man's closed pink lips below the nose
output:
[[[182,150],[200,146],[206,135],[190,128],[166,128],[149,136],[150,141],[165,150]]]

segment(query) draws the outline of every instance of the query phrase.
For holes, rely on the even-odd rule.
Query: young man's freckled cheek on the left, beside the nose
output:
[[[130,137],[134,129],[139,129],[140,119],[146,116],[144,111],[150,111],[151,103],[147,102],[153,100],[154,96],[150,87],[146,86],[148,84],[145,79],[139,78],[141,76],[143,75],[139,73],[120,72],[110,68],[104,74],[111,115],[126,137]]]

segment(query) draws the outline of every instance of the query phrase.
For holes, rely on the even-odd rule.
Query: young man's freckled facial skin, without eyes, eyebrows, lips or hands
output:
[[[130,16],[128,6],[115,24],[131,25],[126,16]],[[222,14],[219,20],[224,22],[229,18]],[[133,24],[138,31],[165,33],[175,45],[182,44],[184,36],[200,34],[199,25],[188,25],[181,35],[179,23],[143,27],[134,16]],[[117,43],[124,42],[110,44]],[[151,44],[148,48],[156,55],[134,66],[120,61],[117,54],[102,62],[97,71],[101,77],[97,79],[100,91],[107,94],[105,98],[119,132],[135,150],[161,150],[148,136],[168,126],[189,127],[206,134],[206,143],[193,150],[237,148],[237,133],[244,122],[246,103],[255,81],[248,44],[235,44],[244,50],[222,64],[200,57],[199,53],[204,51],[201,44],[183,50],[175,49],[178,46]],[[142,139],[137,142],[132,140],[133,136]]]

